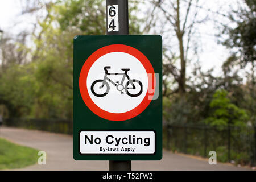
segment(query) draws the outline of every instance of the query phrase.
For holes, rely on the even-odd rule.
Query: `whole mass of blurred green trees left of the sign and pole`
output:
[[[130,34],[140,33],[137,3],[129,5]],[[6,105],[10,117],[72,119],[73,38],[106,32],[104,0],[51,2],[46,13],[38,22],[40,32],[32,36],[34,47],[6,43],[14,53],[6,51],[10,55],[3,57],[0,104]],[[31,60],[14,61],[19,60],[15,53],[23,52],[30,52]]]

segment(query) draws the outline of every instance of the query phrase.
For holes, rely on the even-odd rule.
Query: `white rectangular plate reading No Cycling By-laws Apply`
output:
[[[154,131],[81,131],[80,143],[81,154],[155,153]]]

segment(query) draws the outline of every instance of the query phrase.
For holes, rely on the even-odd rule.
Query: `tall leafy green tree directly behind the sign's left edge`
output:
[[[130,6],[133,7],[133,4]],[[73,37],[105,34],[105,4],[102,0],[67,0],[47,7],[48,14],[39,23],[42,30],[40,39],[35,41],[36,56],[33,61],[38,65],[35,76],[42,90],[38,92],[34,112],[36,117],[71,119]],[[131,21],[136,20],[131,16]],[[134,23],[130,27],[131,34],[138,33],[138,27],[138,23]],[[44,113],[40,109],[42,106]]]

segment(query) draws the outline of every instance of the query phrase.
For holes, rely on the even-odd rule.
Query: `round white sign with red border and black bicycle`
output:
[[[141,114],[154,90],[154,69],[138,49],[112,44],[93,52],[79,77],[82,99],[99,117],[125,121]],[[152,83],[154,84],[154,83]]]

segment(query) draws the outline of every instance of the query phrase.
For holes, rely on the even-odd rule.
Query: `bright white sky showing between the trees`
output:
[[[228,1],[233,0],[222,0],[221,2],[225,5]],[[207,13],[207,9],[218,11],[219,3],[219,0],[207,1],[204,5],[205,11],[201,12]],[[0,28],[4,32],[15,35],[20,30],[24,30],[24,28],[32,28],[31,22],[34,21],[34,17],[30,15],[20,16],[21,7],[22,1],[20,0],[0,1]],[[228,10],[229,7],[223,6],[223,9]],[[213,36],[216,33],[213,24],[204,24],[200,27],[200,32],[204,32],[199,40],[202,51],[200,51],[199,57],[195,60],[202,66],[203,71],[214,68],[214,75],[220,75],[223,61],[230,55],[229,50],[221,44],[217,44],[217,39]],[[165,43],[165,40],[163,40],[163,43]],[[191,56],[193,57],[193,55]],[[189,68],[188,72],[191,72]]]

